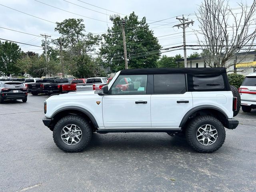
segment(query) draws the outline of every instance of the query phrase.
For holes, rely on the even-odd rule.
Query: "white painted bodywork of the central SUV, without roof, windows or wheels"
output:
[[[108,84],[109,90],[119,74],[117,72]],[[137,101],[147,103],[136,104]],[[184,116],[200,106],[218,108],[226,118],[233,117],[233,94],[230,90],[140,95],[98,95],[84,91],[51,96],[46,102],[46,118],[52,118],[56,112],[70,106],[82,108],[95,118],[98,130],[180,130]]]

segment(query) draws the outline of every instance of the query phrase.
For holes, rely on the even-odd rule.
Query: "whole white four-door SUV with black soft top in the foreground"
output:
[[[194,150],[214,152],[224,127],[238,126],[236,102],[225,68],[128,69],[95,93],[50,96],[43,122],[65,152],[84,150],[92,132],[184,133]]]

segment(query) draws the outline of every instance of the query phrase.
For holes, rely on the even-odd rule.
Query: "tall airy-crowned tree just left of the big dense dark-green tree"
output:
[[[61,37],[52,42],[60,48],[62,42],[62,54],[64,60],[64,71],[74,76],[91,77],[94,73],[90,69],[94,60],[88,54],[95,53],[95,46],[100,44],[102,39],[99,35],[85,34],[85,25],[82,19],[66,19],[63,22],[56,22],[55,31]],[[60,55],[60,52],[56,52]],[[87,66],[88,65],[88,66]]]

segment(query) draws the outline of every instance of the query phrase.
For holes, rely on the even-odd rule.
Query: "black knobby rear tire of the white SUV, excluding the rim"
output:
[[[218,132],[216,141],[208,146],[202,145],[196,138],[197,130],[200,126],[210,124],[214,126]],[[194,150],[200,153],[212,153],[218,150],[224,143],[226,138],[225,128],[222,123],[213,116],[197,116],[190,121],[186,128],[186,140]]]

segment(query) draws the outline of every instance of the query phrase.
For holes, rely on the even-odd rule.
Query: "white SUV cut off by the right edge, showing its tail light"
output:
[[[256,73],[247,75],[239,88],[241,106],[244,112],[256,108]]]

